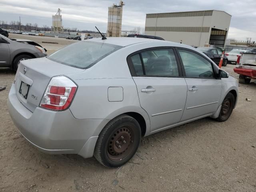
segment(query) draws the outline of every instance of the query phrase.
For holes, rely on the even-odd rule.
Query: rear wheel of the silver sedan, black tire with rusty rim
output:
[[[94,157],[106,167],[122,166],[134,156],[140,139],[140,124],[131,116],[120,115],[111,120],[100,132]],[[117,150],[124,151],[118,153]]]

